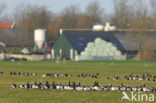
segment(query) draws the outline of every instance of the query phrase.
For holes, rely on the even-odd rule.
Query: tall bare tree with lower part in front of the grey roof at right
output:
[[[135,42],[138,46],[138,53],[140,51],[144,42],[147,40],[149,29],[151,28],[152,20],[148,16],[148,10],[146,3],[143,0],[138,0],[133,2],[135,8],[133,8],[133,23],[130,25],[129,29],[133,31],[130,36],[135,37]]]

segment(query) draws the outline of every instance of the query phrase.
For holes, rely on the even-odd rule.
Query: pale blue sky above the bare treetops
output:
[[[54,13],[60,12],[67,6],[70,5],[79,5],[81,11],[85,10],[85,7],[88,3],[93,0],[0,0],[7,5],[5,9],[5,13],[11,14],[14,11],[14,8],[20,4],[32,4],[32,5],[39,5],[45,6],[48,10],[53,11]],[[105,13],[112,13],[113,12],[113,2],[112,0],[97,0],[101,4],[102,8],[104,9]]]

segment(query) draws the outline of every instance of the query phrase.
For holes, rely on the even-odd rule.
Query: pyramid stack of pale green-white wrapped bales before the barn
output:
[[[89,42],[84,51],[75,57],[76,60],[126,60],[126,55],[122,55],[112,43],[95,39]]]

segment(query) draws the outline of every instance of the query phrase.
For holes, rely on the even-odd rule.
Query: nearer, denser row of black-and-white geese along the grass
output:
[[[140,92],[156,92],[156,88],[154,87],[146,87],[146,84],[139,87],[127,87],[124,86],[123,83],[121,86],[113,86],[113,85],[104,85],[99,86],[97,81],[94,81],[92,86],[81,85],[80,82],[76,84],[76,82],[68,82],[68,85],[63,85],[62,83],[56,84],[54,81],[49,83],[48,81],[43,84],[41,81],[39,83],[35,82],[34,84],[30,84],[29,82],[26,84],[20,84],[17,86],[16,84],[12,84],[11,88],[25,88],[25,89],[56,89],[56,90],[76,90],[76,91],[140,91]]]

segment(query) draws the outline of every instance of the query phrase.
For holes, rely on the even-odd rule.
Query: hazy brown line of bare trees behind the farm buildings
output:
[[[59,13],[53,13],[46,7],[19,4],[12,15],[4,16],[6,7],[1,2],[0,21],[15,21],[15,27],[12,30],[1,29],[0,41],[7,45],[32,46],[34,29],[46,28],[48,40],[55,41],[60,28],[91,29],[94,24],[105,24],[106,21],[117,28],[135,29],[138,32],[156,28],[156,0],[150,0],[150,7],[145,0],[114,0],[113,4],[112,14],[106,14],[103,4],[98,1],[90,2],[83,12],[79,5],[71,5]]]

